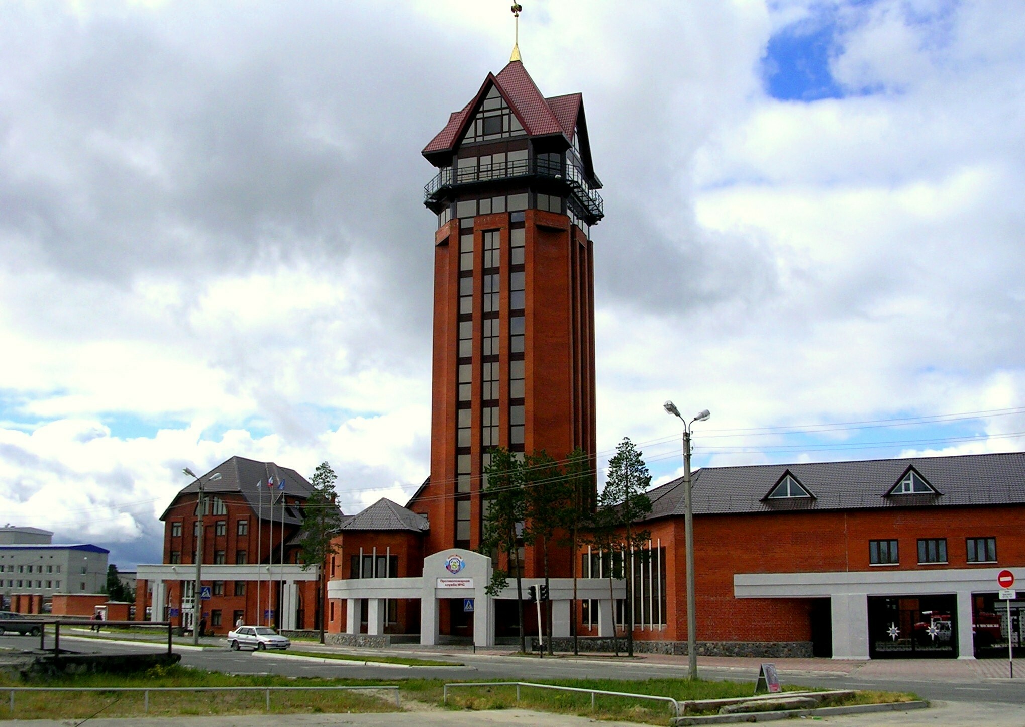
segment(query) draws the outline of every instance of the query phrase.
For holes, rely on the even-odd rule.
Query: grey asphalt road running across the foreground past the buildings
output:
[[[134,646],[108,643],[96,639],[61,637],[61,647],[81,651],[101,651],[123,653]],[[155,644],[141,645],[148,650],[156,650]],[[423,656],[445,660],[450,658],[464,667],[416,667],[412,669],[364,665],[360,662],[341,660],[308,660],[289,657],[275,652],[232,651],[221,648],[177,649],[181,662],[215,672],[230,674],[275,674],[287,677],[333,677],[347,679],[445,679],[453,682],[465,680],[490,681],[534,681],[539,679],[627,679],[684,677],[687,670],[673,664],[650,663],[644,661],[626,662],[603,658],[532,658],[523,656],[495,656],[471,653],[441,654]],[[395,655],[417,656],[406,651]],[[1025,669],[1025,664],[1023,664]],[[756,673],[746,674],[735,669],[701,668],[704,679],[729,679],[750,681]],[[784,683],[818,686],[830,689],[883,689],[888,691],[914,692],[930,700],[959,700],[976,703],[999,702],[1025,705],[1025,679],[1015,682],[1002,680],[985,681],[939,681],[913,679],[866,679],[857,674],[826,675],[799,674],[782,675]]]

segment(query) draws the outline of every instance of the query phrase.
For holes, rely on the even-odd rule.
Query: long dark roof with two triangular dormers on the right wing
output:
[[[939,494],[887,493],[909,467]],[[766,500],[789,471],[814,498]],[[705,468],[694,473],[695,515],[1025,503],[1025,453]],[[684,515],[683,478],[649,491],[646,519]]]

